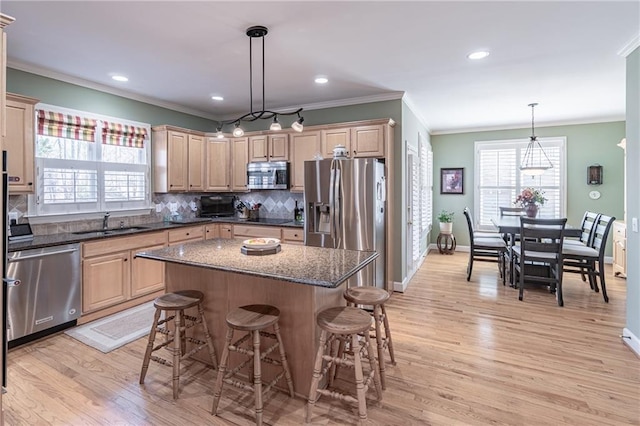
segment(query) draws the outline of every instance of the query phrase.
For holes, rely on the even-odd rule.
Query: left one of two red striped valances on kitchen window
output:
[[[95,141],[98,121],[77,115],[38,110],[38,134],[59,138]]]

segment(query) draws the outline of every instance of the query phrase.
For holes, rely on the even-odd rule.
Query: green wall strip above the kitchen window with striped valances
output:
[[[30,96],[50,105],[141,121],[152,126],[170,124],[202,132],[215,131],[212,120],[12,68],[7,68],[7,92]]]

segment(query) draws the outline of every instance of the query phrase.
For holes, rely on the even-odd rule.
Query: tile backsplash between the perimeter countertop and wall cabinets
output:
[[[183,219],[195,218],[200,215],[200,197],[210,196],[211,193],[171,193],[171,194],[153,194],[153,205],[159,205],[160,211],[152,208],[148,215],[131,216],[131,217],[112,217],[109,220],[111,227],[118,226],[123,222],[124,226],[143,225],[145,223],[161,222],[171,217],[171,207],[176,208],[176,213]],[[245,204],[262,204],[260,207],[260,217],[272,219],[291,219],[293,220],[293,209],[298,201],[299,207],[303,204],[303,194],[292,193],[289,191],[266,190],[251,191],[242,193],[225,193],[224,195],[235,195]],[[27,215],[27,196],[26,195],[9,195],[8,212],[14,212],[18,215],[19,223],[28,222]],[[50,235],[61,232],[77,232],[89,229],[95,229],[102,226],[102,219],[79,220],[67,222],[52,222],[43,224],[32,224],[34,234]]]

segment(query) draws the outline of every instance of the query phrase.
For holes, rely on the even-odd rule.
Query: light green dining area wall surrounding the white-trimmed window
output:
[[[497,130],[431,136],[434,158],[434,216],[442,209],[455,211],[453,232],[459,245],[469,245],[469,232],[462,214],[474,202],[474,143],[503,139],[527,139],[530,129]],[[567,218],[568,223],[580,226],[586,210],[622,218],[624,214],[624,152],[616,145],[625,136],[625,122],[580,124],[571,126],[536,127],[539,137],[567,138]],[[587,167],[603,166],[603,184],[587,185]],[[440,168],[464,167],[464,194],[440,194]],[[592,200],[588,194],[597,189],[602,196]],[[435,219],[434,219],[435,220]],[[438,227],[437,221],[434,227]],[[431,235],[432,242],[437,236]],[[611,256],[611,243],[607,247]]]

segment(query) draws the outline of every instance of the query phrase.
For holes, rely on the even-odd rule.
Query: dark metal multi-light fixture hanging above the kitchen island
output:
[[[217,136],[219,138],[224,137],[224,135],[222,134],[222,128],[229,124],[233,124],[235,126],[233,129],[233,136],[235,137],[243,136],[244,130],[242,129],[242,127],[240,127],[242,121],[250,122],[250,121],[256,121],[258,119],[262,119],[262,120],[273,119],[273,121],[271,122],[271,126],[269,126],[269,130],[275,130],[275,131],[282,130],[282,125],[278,120],[279,116],[296,115],[297,120],[295,120],[293,124],[291,124],[291,128],[296,132],[301,132],[304,128],[302,125],[304,118],[300,115],[300,113],[302,112],[302,108],[298,108],[297,110],[292,112],[275,112],[275,111],[270,111],[268,109],[265,109],[265,106],[264,106],[264,36],[266,36],[268,32],[269,31],[267,30],[267,27],[263,27],[261,25],[256,25],[256,26],[247,28],[247,36],[249,36],[249,102],[250,102],[249,112],[233,120],[219,121],[218,127],[216,128]],[[253,46],[253,39],[255,38],[262,39],[262,109],[260,111],[253,110],[252,46]]]

